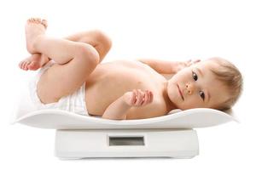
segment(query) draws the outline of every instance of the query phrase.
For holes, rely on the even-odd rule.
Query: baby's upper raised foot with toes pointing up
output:
[[[26,21],[26,48],[30,54],[35,54],[37,51],[34,48],[34,43],[40,35],[44,35],[47,27],[47,21],[39,18],[31,18]]]

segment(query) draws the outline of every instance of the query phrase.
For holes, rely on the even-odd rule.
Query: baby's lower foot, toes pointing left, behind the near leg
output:
[[[42,54],[32,54],[30,57],[20,61],[20,69],[24,71],[37,71],[49,61],[48,57]]]

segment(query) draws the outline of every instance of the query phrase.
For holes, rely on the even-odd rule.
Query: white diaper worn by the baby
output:
[[[73,94],[67,95],[59,99],[58,102],[43,104],[38,98],[37,94],[37,84],[41,75],[46,71],[50,66],[54,65],[55,62],[50,60],[44,67],[42,67],[35,77],[32,78],[29,83],[30,96],[32,98],[32,102],[36,105],[38,110],[44,109],[60,109],[64,111],[71,111],[77,113],[79,115],[88,116],[88,111],[85,105],[85,82],[84,84]]]

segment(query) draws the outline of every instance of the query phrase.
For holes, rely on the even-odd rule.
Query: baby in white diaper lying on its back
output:
[[[46,27],[46,20],[27,20],[26,48],[32,55],[19,64],[25,71],[42,67],[32,84],[32,95],[41,108],[62,107],[115,120],[143,119],[164,116],[174,109],[226,110],[241,94],[241,73],[225,59],[137,59],[102,64],[111,48],[111,40],[102,31],[61,39],[46,36]],[[173,76],[166,79],[164,74]]]

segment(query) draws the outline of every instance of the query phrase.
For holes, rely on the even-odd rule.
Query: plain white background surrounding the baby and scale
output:
[[[254,62],[256,5],[253,1],[1,1],[0,3],[0,168],[3,169],[255,169]],[[112,37],[106,61],[159,58],[229,59],[244,76],[235,106],[241,123],[197,129],[200,155],[175,159],[86,159],[61,161],[54,156],[54,130],[9,125],[20,85],[34,72],[21,71],[25,58],[26,19],[49,20],[49,36],[101,29]],[[161,167],[160,167],[161,166]]]

